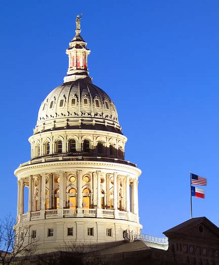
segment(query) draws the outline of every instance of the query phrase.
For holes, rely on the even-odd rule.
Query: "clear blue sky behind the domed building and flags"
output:
[[[1,1],[1,216],[16,215],[41,102],[65,76],[83,12],[90,75],[116,103],[126,159],[142,170],[143,232],[190,218],[189,171],[206,176],[194,216],[219,225],[218,1]]]

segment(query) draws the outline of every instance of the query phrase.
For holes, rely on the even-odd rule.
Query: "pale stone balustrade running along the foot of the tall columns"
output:
[[[28,222],[35,219],[52,219],[62,217],[97,217],[97,218],[115,218],[138,222],[138,216],[132,212],[110,210],[110,209],[50,209],[32,211],[21,214],[17,218],[17,223]]]

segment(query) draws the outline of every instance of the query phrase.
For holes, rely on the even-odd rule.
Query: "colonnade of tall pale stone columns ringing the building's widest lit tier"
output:
[[[91,208],[101,209],[101,171],[93,172],[92,179],[92,203]],[[65,172],[58,171],[56,173],[56,178],[59,177],[58,189],[59,189],[59,209],[64,209],[66,207],[67,201],[67,192],[66,188],[69,187],[67,185],[67,178]],[[21,178],[18,180],[18,200],[17,200],[17,214],[24,213],[24,186],[28,186],[28,211],[34,211],[33,209],[33,190],[34,190],[34,177],[36,176],[29,175],[26,178]],[[46,183],[46,179],[48,180],[48,184]],[[118,210],[120,208],[120,181],[117,172],[112,174],[106,173],[106,205],[109,205],[109,181],[113,179],[113,209]],[[38,180],[38,194],[39,198],[37,200],[37,210],[46,210],[46,184],[49,187],[49,195],[48,198],[48,208],[54,208],[53,198],[54,198],[54,189],[53,189],[53,174],[43,173],[37,175]],[[122,198],[124,201],[124,209],[125,211],[131,211],[134,214],[138,215],[138,181],[137,178],[131,178],[130,175],[123,176],[122,178],[123,189],[125,196]],[[77,170],[77,208],[83,208],[83,175],[82,170]]]

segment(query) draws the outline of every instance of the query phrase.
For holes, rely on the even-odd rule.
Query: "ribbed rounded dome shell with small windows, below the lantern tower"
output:
[[[90,77],[65,82],[46,97],[34,134],[79,127],[121,133],[115,104]]]

